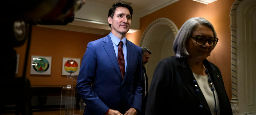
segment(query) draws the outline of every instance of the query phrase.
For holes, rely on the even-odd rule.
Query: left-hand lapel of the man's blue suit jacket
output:
[[[103,42],[106,43],[103,46],[104,46],[106,52],[108,53],[109,58],[110,58],[111,62],[113,63],[113,66],[116,68],[116,71],[118,72],[118,75],[122,79],[120,68],[118,66],[118,62],[117,62],[117,59],[116,59],[115,50],[114,50],[113,43],[112,43],[112,40],[111,40],[110,36],[107,35],[104,38]]]

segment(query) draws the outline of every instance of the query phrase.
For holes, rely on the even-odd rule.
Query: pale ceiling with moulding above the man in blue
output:
[[[85,4],[75,13],[73,22],[66,26],[37,25],[75,32],[104,35],[111,31],[108,23],[108,11],[118,0],[85,0]],[[128,33],[140,30],[140,18],[168,6],[179,0],[122,0],[131,3],[133,9],[132,24]],[[193,0],[197,2],[213,2],[216,0]],[[209,3],[210,3],[209,2]]]

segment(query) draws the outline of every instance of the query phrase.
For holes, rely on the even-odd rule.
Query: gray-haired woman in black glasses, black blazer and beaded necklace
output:
[[[146,115],[232,115],[221,71],[207,57],[218,42],[213,25],[190,18],[161,60],[148,91]]]

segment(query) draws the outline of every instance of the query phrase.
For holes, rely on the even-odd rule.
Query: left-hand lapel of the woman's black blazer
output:
[[[201,101],[201,104],[203,105],[203,107],[205,108],[205,109],[207,109],[209,112],[211,112],[210,111],[210,108],[209,108],[209,105],[208,105],[208,103],[207,103],[207,101],[206,101],[206,99],[204,98],[204,96],[203,96],[203,93],[202,93],[202,91],[201,91],[201,89],[200,89],[200,87],[198,87],[198,89],[199,89],[199,96],[200,97],[198,97],[198,94],[196,93],[196,88],[195,88],[195,83],[193,83],[193,80],[194,80],[194,78],[193,78],[193,72],[192,72],[192,70],[190,69],[190,67],[189,67],[189,65],[188,65],[188,63],[187,63],[187,60],[186,60],[186,58],[181,58],[181,59],[179,59],[179,61],[178,61],[178,71],[179,71],[179,74],[180,74],[180,77],[182,78],[182,80],[183,80],[183,82],[184,82],[184,84],[185,84],[185,86],[187,87],[187,89],[189,90],[189,92],[198,100],[198,101]],[[199,100],[199,98],[200,98],[200,100]],[[198,107],[199,108],[199,107]]]

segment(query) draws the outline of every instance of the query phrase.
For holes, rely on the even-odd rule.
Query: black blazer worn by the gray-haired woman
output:
[[[216,89],[221,115],[232,115],[221,71],[206,59],[203,64],[208,68]],[[186,57],[176,58],[172,56],[160,61],[155,69],[148,91],[146,115],[211,115],[201,89],[199,88],[199,96],[195,92],[196,88],[193,80],[193,72]],[[203,105],[202,109],[199,108],[199,97]]]

